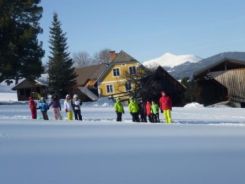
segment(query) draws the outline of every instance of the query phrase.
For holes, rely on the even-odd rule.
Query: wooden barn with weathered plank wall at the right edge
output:
[[[245,61],[225,58],[194,75],[197,101],[211,105],[221,101],[245,102]]]

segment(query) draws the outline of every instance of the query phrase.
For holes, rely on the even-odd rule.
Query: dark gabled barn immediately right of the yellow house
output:
[[[141,79],[140,96],[143,101],[158,102],[161,91],[165,91],[172,98],[173,106],[184,105],[185,87],[162,67],[158,67],[156,71]]]

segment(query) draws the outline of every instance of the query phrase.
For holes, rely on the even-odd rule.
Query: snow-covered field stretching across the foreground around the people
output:
[[[0,105],[0,183],[245,183],[245,109],[174,108],[172,125],[127,111],[118,123],[108,104],[82,115],[33,121],[27,104]]]

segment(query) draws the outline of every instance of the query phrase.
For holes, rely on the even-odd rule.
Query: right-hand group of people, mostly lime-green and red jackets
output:
[[[161,92],[161,97],[159,102],[146,101],[146,103],[137,101],[133,98],[130,99],[128,104],[129,112],[132,116],[133,122],[160,122],[159,110],[163,113],[165,122],[167,124],[172,123],[171,111],[172,111],[172,100],[164,92]],[[120,99],[117,98],[114,104],[114,109],[117,114],[117,121],[122,121],[122,114],[124,113],[124,108]]]

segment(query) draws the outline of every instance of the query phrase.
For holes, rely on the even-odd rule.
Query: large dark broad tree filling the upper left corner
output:
[[[43,71],[40,0],[0,0],[0,79],[34,79]]]

